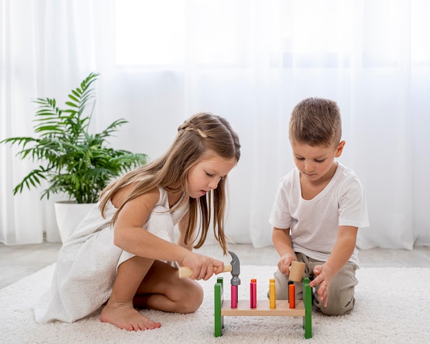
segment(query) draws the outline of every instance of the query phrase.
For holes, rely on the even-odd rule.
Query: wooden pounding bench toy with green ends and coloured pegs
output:
[[[239,264],[238,260],[236,264]],[[295,301],[295,295],[291,295],[292,299],[290,301],[273,299],[275,297],[274,281],[269,288],[269,300],[253,299],[256,295],[253,290],[256,286],[253,286],[253,284],[256,281],[252,279],[250,284],[250,301],[235,301],[233,299],[237,297],[237,285],[240,284],[240,280],[237,282],[238,276],[233,276],[231,286],[234,286],[233,283],[236,284],[236,293],[234,293],[234,289],[232,288],[232,300],[230,302],[223,298],[223,277],[218,277],[214,286],[214,336],[218,337],[223,334],[225,316],[290,316],[303,317],[304,337],[306,339],[312,338],[312,288],[309,286],[309,278],[303,278],[304,263],[292,262],[290,271],[289,279],[291,281],[302,282],[303,280],[303,300]],[[294,288],[290,290],[294,290]],[[226,302],[224,303],[223,301]]]

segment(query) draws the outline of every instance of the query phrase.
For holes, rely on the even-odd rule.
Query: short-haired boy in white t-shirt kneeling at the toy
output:
[[[269,217],[280,255],[276,298],[288,299],[291,262],[304,262],[310,286],[317,288],[314,305],[328,315],[354,308],[357,231],[369,225],[359,179],[335,160],[345,146],[341,131],[332,100],[308,98],[293,108],[289,139],[296,168],[282,177]],[[300,284],[296,293],[302,299]]]

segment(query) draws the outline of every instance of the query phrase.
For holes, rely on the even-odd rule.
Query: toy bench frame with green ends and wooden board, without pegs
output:
[[[231,308],[231,301],[223,299],[223,277],[218,277],[215,288],[214,336],[223,334],[225,316],[288,316],[303,317],[304,337],[312,338],[312,288],[309,279],[303,279],[304,300],[296,300],[295,308],[290,308],[288,301],[276,300],[276,308],[269,307],[269,300],[258,300],[257,308],[249,307],[248,301],[238,301],[237,308]]]

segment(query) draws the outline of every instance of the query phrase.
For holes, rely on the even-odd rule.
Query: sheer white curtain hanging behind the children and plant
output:
[[[227,234],[271,244],[267,221],[294,166],[300,100],[336,100],[370,228],[359,247],[430,246],[430,5],[426,0],[0,0],[0,139],[33,135],[36,97],[65,101],[99,72],[94,130],[155,158],[193,113],[229,119],[242,157],[229,176]],[[13,196],[31,162],[0,146],[0,241],[59,240],[56,198]],[[60,198],[60,196],[58,196]]]

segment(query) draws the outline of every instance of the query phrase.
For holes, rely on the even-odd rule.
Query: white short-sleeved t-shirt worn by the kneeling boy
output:
[[[328,185],[315,198],[302,198],[300,172],[294,168],[280,180],[269,222],[290,229],[293,250],[326,262],[339,226],[368,227],[363,186],[350,168],[338,162]],[[350,262],[359,265],[357,249]]]

